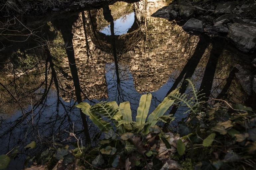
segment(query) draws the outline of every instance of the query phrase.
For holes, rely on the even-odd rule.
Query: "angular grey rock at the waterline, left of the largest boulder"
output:
[[[200,20],[191,18],[187,21],[184,26],[182,27],[185,31],[192,31],[192,32],[203,32],[203,23]]]

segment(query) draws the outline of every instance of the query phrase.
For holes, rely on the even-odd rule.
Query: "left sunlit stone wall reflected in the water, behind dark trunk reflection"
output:
[[[81,15],[82,14],[80,13],[79,19],[74,24],[72,30],[73,47],[80,87],[82,93],[89,99],[107,98],[105,54],[95,48],[89,35],[87,35],[89,45],[86,46],[85,31]],[[85,16],[87,15],[85,14]],[[62,67],[67,70],[69,75],[71,75],[67,58],[64,59]],[[73,86],[72,80],[67,81],[64,77],[63,80],[67,89]],[[83,94],[81,95],[83,96]],[[64,99],[70,100],[70,97],[68,96],[65,96]]]

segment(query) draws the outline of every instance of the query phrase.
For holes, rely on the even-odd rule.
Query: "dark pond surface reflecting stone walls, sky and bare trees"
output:
[[[72,129],[85,142],[84,128],[91,138],[98,129],[82,121],[77,102],[129,101],[134,119],[142,94],[152,93],[152,112],[175,88],[187,93],[187,78],[203,90],[205,101],[253,106],[234,67],[251,56],[222,38],[190,35],[175,21],[151,17],[166,5],[116,2],[57,19],[11,20],[19,35],[10,31],[0,39],[0,154],[19,146],[36,155],[54,142],[72,143],[65,131]],[[186,109],[167,113],[177,122]],[[33,140],[35,149],[22,149]],[[22,154],[9,168],[21,169],[25,159]]]

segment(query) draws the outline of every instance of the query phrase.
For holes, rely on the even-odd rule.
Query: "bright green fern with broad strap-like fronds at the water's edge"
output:
[[[120,103],[119,106],[115,101],[99,102],[92,106],[86,102],[82,102],[76,105],[76,107],[80,108],[84,114],[89,116],[89,119],[102,131],[109,131],[110,129],[116,128],[119,134],[127,131],[148,133],[149,128],[156,125],[158,121],[174,119],[172,115],[161,117],[176,100],[171,96],[177,94],[179,94],[179,89],[174,90],[165,97],[163,102],[149,115],[147,120],[152,99],[150,93],[141,96],[135,121],[132,120],[132,111],[128,101]]]

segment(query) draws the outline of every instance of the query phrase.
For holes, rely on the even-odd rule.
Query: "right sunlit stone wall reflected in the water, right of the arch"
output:
[[[198,38],[188,35],[175,21],[149,16],[165,6],[165,2],[144,3],[135,3],[136,15],[139,15],[139,20],[143,22],[141,30],[144,39],[134,47],[130,70],[136,90],[152,92],[165,84],[174,70],[181,70],[184,67]]]

